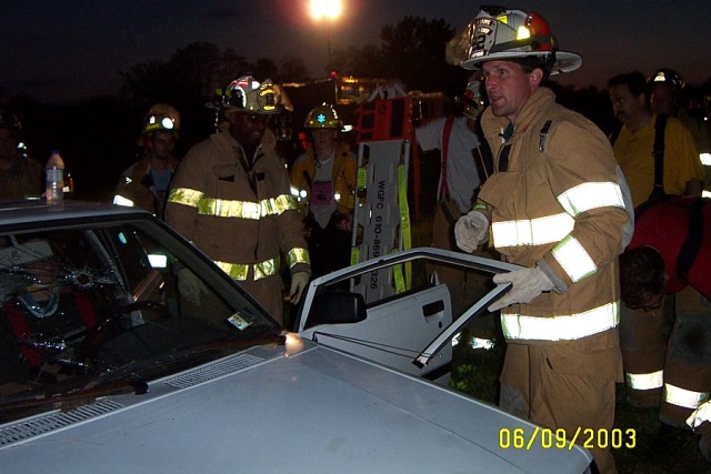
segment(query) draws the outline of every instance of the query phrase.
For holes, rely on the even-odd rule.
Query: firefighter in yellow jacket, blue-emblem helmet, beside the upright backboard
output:
[[[343,123],[333,105],[312,109],[304,127],[312,140],[291,168],[291,185],[306,214],[303,232],[316,278],[350,263],[357,159],[349,143],[339,140]]]

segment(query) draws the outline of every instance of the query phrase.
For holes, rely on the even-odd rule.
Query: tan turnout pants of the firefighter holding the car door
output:
[[[519,417],[563,428],[568,440],[579,427],[610,434],[615,382],[622,381],[617,330],[578,341],[508,341],[500,380],[499,405]],[[600,473],[617,472],[609,448],[591,452]]]

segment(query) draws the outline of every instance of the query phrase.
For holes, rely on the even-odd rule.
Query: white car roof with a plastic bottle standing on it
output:
[[[48,204],[44,200],[0,202],[0,225],[28,222],[49,222],[77,218],[139,216],[150,215],[138,208],[126,208],[101,202],[63,201]]]

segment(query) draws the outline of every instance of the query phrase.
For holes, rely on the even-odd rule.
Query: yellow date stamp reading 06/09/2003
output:
[[[565,430],[551,430],[535,426],[527,433],[522,427],[499,428],[499,447],[502,450],[530,451],[537,446],[543,450],[572,450],[579,444],[585,450],[619,450],[621,447],[633,448],[637,446],[637,432],[634,428],[582,428],[578,427],[570,438],[565,436]]]

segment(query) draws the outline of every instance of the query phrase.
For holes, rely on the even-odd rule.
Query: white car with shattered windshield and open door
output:
[[[0,473],[589,472],[587,451],[425,379],[459,321],[437,282],[367,304],[343,284],[328,295],[428,255],[314,281],[288,332],[146,212],[0,206]]]

